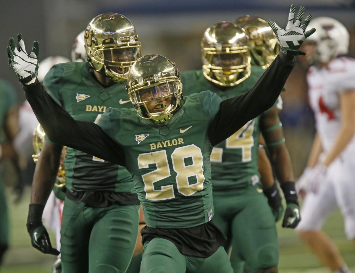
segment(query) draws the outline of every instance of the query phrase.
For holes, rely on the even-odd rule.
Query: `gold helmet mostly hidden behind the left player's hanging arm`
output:
[[[43,147],[43,142],[44,142],[44,136],[45,132],[42,129],[42,126],[40,124],[35,127],[33,131],[33,136],[32,136],[32,144],[33,144],[33,149],[34,149],[34,154],[32,155],[34,163],[38,162],[38,157],[40,152],[42,151]],[[58,174],[57,174],[57,182],[54,184],[56,187],[64,187],[65,186],[65,170],[64,170],[64,158],[66,154],[66,147],[63,147],[61,158],[60,158],[60,166],[58,169]]]

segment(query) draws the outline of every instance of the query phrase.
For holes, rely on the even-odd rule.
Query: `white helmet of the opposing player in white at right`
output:
[[[331,17],[312,19],[306,31],[315,28],[316,32],[307,38],[306,42],[315,42],[317,50],[315,60],[327,63],[339,55],[348,54],[349,32],[338,20]]]

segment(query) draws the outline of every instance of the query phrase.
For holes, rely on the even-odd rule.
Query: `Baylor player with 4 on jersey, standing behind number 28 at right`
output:
[[[304,8],[301,8],[300,17],[303,16],[303,11]],[[181,75],[185,95],[210,90],[226,100],[246,93],[257,83],[264,69],[261,65],[250,65],[250,52],[255,51],[255,46],[249,51],[248,45],[261,40],[263,44],[259,44],[259,47],[265,49],[267,45],[273,43],[275,48],[277,38],[265,21],[262,20],[262,27],[256,30],[253,26],[255,23],[250,21],[243,26],[247,33],[231,22],[213,24],[204,32],[201,42],[202,70],[187,71]],[[249,27],[250,25],[253,27]],[[257,24],[260,25],[261,22]],[[228,44],[231,44],[231,47],[227,47]],[[273,58],[268,59],[265,68],[277,55],[272,50],[268,52],[270,55],[273,54]],[[253,54],[251,55],[252,59],[256,59]],[[257,61],[254,63],[260,64]],[[272,184],[264,189],[264,193],[269,199],[274,215],[263,195],[258,172],[260,127],[266,137],[288,203],[283,224],[285,227],[294,228],[299,221],[293,170],[284,144],[278,108],[275,105],[217,144],[211,153],[215,209],[213,220],[228,238],[225,244],[226,251],[232,247],[230,261],[234,272],[243,272],[243,261],[252,272],[277,271],[279,255],[275,219],[282,214],[282,204],[273,178]],[[245,225],[248,226],[247,232]]]

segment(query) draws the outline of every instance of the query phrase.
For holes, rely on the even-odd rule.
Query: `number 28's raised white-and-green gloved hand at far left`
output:
[[[38,74],[39,45],[33,42],[32,52],[27,54],[24,47],[22,34],[17,35],[18,47],[15,39],[10,38],[10,45],[7,47],[9,66],[16,73],[18,80],[24,84],[32,81]]]

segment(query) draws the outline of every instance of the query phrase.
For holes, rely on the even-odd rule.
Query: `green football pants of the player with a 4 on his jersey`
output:
[[[278,265],[279,248],[275,219],[261,186],[233,191],[213,191],[213,222],[228,238],[225,250],[232,247],[230,262],[234,273]]]

